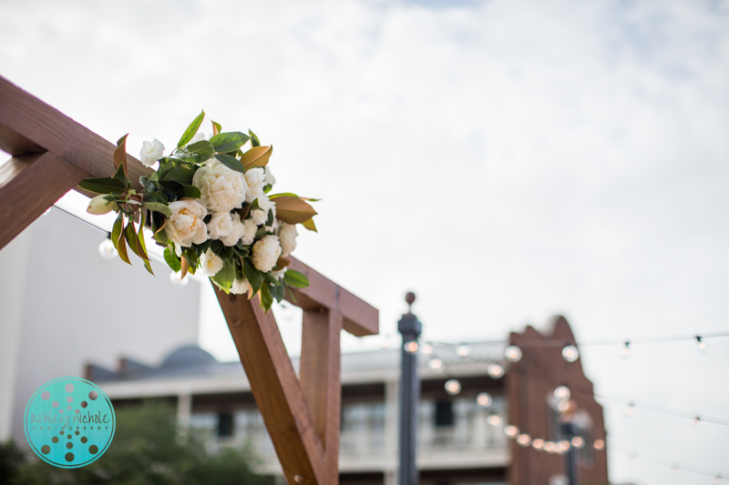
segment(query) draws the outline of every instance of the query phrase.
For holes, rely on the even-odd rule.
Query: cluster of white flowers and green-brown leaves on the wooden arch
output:
[[[91,199],[89,213],[118,213],[110,238],[128,264],[127,246],[154,274],[142,236],[149,227],[180,279],[200,269],[226,293],[260,293],[268,310],[287,286],[309,285],[302,273],[287,270],[286,257],[296,248],[297,224],[316,231],[309,204],[316,199],[270,194],[272,147],[262,147],[250,130],[222,133],[214,121],[206,139],[199,133],[204,117],[203,111],[190,123],[168,156],[159,140],[144,142],[140,161],[157,168],[139,178],[141,191],[128,178],[126,135],[114,153],[116,173],[87,178],[79,187],[101,194]]]

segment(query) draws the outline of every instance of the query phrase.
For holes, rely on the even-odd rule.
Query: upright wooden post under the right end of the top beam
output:
[[[324,447],[324,483],[339,483],[339,427],[342,411],[340,333],[334,310],[303,310],[301,384],[316,433]]]

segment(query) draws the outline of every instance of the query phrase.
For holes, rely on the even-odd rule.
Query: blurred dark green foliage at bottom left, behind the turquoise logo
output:
[[[104,455],[86,467],[60,469],[41,460],[23,463],[12,445],[0,448],[0,480],[13,485],[272,485],[251,469],[244,449],[206,450],[194,430],[182,439],[169,405],[148,402],[117,410],[114,440]]]

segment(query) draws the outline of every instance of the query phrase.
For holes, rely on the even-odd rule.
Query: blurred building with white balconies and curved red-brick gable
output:
[[[607,485],[604,447],[594,447],[596,440],[604,444],[602,409],[579,359],[566,362],[561,347],[544,345],[555,339],[574,343],[564,318],[556,318],[545,335],[533,328],[512,334],[510,343],[522,349],[514,362],[504,358],[504,342],[421,346],[420,483],[565,483],[568,450],[559,448],[565,440],[554,393],[565,386],[580,390],[570,400],[584,428],[582,442],[571,441],[579,448],[580,483]],[[535,344],[539,341],[542,345]],[[342,357],[343,485],[395,485],[399,364],[399,349]],[[298,359],[293,366],[298,369]],[[531,379],[535,376],[539,379]],[[282,475],[240,362],[218,362],[202,349],[185,347],[159,367],[129,359],[113,370],[89,365],[87,379],[101,385],[115,406],[169,399],[177,406],[180,426],[204,433],[211,447],[247,444],[261,460],[258,471]],[[548,445],[545,450],[539,440],[555,449]]]

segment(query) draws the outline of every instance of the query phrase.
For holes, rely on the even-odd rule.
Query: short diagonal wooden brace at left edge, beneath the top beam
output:
[[[85,177],[86,172],[50,152],[0,165],[0,249]]]

